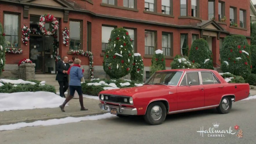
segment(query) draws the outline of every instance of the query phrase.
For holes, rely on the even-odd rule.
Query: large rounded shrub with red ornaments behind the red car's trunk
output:
[[[247,78],[251,73],[250,47],[245,36],[226,36],[220,51],[222,71]]]

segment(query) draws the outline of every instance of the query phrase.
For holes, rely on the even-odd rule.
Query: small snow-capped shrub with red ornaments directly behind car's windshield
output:
[[[161,70],[165,70],[165,58],[162,50],[158,49],[154,52],[151,63],[152,66],[157,65],[161,67]]]

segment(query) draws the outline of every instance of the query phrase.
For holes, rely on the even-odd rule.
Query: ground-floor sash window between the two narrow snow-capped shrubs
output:
[[[145,31],[145,54],[153,55],[155,47],[155,32]]]

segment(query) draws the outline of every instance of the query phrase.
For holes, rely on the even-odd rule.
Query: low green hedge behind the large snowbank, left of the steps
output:
[[[56,89],[54,86],[45,84],[45,85],[39,85],[39,84],[4,84],[3,86],[0,86],[0,93],[18,93],[18,92],[36,92],[36,91],[48,91],[52,93],[56,93]]]

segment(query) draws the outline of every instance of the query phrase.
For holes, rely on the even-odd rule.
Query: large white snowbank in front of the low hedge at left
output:
[[[0,112],[35,108],[57,108],[64,100],[65,98],[55,93],[45,91],[0,93]]]

